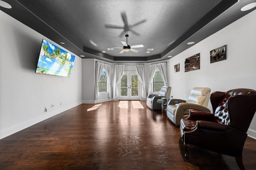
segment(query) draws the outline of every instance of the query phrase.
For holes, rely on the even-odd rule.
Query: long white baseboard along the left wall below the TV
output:
[[[73,107],[76,107],[76,106],[78,106],[80,104],[82,104],[82,102],[77,102],[77,103],[71,104],[69,106],[63,107],[61,109],[50,111],[49,113],[46,113],[44,115],[35,117],[34,119],[30,119],[30,120],[25,121],[23,123],[20,123],[18,125],[14,125],[14,126],[9,127],[7,129],[3,129],[3,130],[0,131],[0,139],[8,137],[8,136],[10,136],[10,135],[12,135],[14,133],[17,133],[18,131],[21,131],[23,129],[26,129],[26,128],[32,126],[32,125],[35,125],[36,123],[39,123],[39,122],[44,121],[46,119],[49,119],[50,117],[58,115],[59,113],[62,113],[64,111],[66,111],[68,109],[71,109]]]

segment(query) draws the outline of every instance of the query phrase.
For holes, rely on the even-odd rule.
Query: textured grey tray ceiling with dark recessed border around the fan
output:
[[[160,61],[188,49],[252,10],[255,0],[13,0],[0,10],[82,58]],[[120,54],[127,44],[144,45]],[[146,53],[147,49],[154,49]],[[106,53],[102,53],[106,51]]]

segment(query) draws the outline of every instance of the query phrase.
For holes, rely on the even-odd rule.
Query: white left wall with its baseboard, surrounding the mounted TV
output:
[[[42,39],[57,44],[2,11],[0,23],[1,139],[81,104],[82,59],[70,78],[35,73]]]

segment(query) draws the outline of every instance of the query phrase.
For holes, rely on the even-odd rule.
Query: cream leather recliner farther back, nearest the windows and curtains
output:
[[[156,94],[149,94],[147,97],[147,106],[150,109],[162,109],[162,100],[161,98],[170,98],[172,88],[170,86],[163,86],[161,92]]]

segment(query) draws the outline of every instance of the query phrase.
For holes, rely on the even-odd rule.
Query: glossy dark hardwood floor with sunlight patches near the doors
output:
[[[180,129],[166,110],[152,111],[146,101],[110,101],[81,104],[1,139],[0,169],[239,169],[234,157],[193,146],[188,151],[186,159]],[[255,170],[255,160],[256,140],[248,137],[245,168]]]

